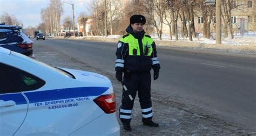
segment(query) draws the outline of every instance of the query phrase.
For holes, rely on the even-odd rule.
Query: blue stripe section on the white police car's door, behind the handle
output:
[[[14,101],[17,105],[26,104],[26,99],[21,93],[15,94],[2,94],[0,95],[0,99],[3,101]]]

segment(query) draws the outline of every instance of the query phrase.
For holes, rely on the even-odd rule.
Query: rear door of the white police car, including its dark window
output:
[[[0,83],[0,135],[14,135],[28,114],[24,92],[41,88],[45,81],[0,61]]]

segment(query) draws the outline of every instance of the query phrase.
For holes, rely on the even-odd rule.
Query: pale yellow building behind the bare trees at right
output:
[[[234,33],[240,32],[244,30],[244,32],[248,31],[256,31],[256,3],[255,0],[236,0],[233,3],[233,6],[238,6],[237,9],[231,10],[231,22],[233,26]],[[221,11],[224,13],[224,11]],[[160,21],[159,17],[156,17],[156,22],[158,27],[160,27]],[[215,17],[213,17],[213,21],[215,22]],[[223,22],[223,20],[221,21]],[[204,20],[201,10],[195,11],[194,15],[194,25],[196,32],[203,33],[204,28]],[[215,28],[213,27],[213,22],[211,23],[211,32],[215,32]],[[173,23],[172,23],[173,25]],[[181,32],[181,20],[180,17],[178,18],[178,33]],[[186,22],[186,25],[187,22]],[[174,30],[174,27],[172,26],[172,30]],[[154,30],[156,32],[156,28]],[[169,34],[169,26],[166,24],[163,24],[163,34]]]

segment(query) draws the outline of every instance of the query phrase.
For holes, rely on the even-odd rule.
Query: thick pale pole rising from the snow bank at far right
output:
[[[221,44],[221,5],[220,0],[216,1],[216,44]]]

